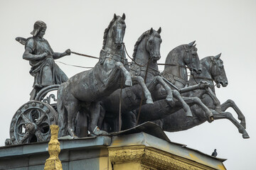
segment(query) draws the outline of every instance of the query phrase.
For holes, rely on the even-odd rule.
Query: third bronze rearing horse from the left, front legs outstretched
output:
[[[185,87],[188,84],[188,75],[186,69],[188,68],[191,70],[192,74],[196,72],[198,75],[200,75],[199,73],[201,73],[202,69],[197,54],[197,48],[194,43],[195,41],[188,43],[187,45],[179,45],[178,47],[174,48],[174,50],[171,50],[169,55],[166,57],[166,67],[164,72],[161,73],[164,79],[166,79],[166,82],[169,82],[171,86],[175,87],[176,91],[180,92],[181,94],[196,89],[208,88],[208,84],[206,82],[201,82],[201,84],[195,86]],[[158,96],[158,98],[164,98],[166,96],[166,92],[163,91],[163,89],[160,89],[159,91],[160,93],[158,94],[161,94],[161,96]],[[178,95],[176,96],[178,92],[175,93],[175,91],[173,91],[174,98],[178,99]],[[181,100],[185,101],[188,105],[183,105]],[[182,96],[182,98],[178,99],[178,101],[175,100],[175,103],[172,105],[170,105],[170,103],[166,100],[159,100],[154,101],[154,105],[142,106],[139,123],[165,118],[166,116],[176,113],[179,110],[181,110],[181,114],[183,114],[184,117],[188,117],[189,114],[192,115],[189,106],[193,106],[195,104],[203,109],[203,113],[206,114],[206,120],[212,122],[213,114],[211,113],[210,109],[202,103],[200,98],[194,96]],[[184,109],[186,114],[184,114],[184,111],[181,108]],[[134,115],[137,115],[137,113],[138,109],[137,111],[134,111]],[[136,117],[134,115],[131,113],[130,117]],[[134,121],[130,122],[132,123],[130,126],[127,126],[127,128],[132,128],[135,125]]]

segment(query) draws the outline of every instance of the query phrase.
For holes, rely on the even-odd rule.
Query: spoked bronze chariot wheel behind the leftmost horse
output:
[[[16,111],[11,120],[7,145],[50,140],[50,125],[57,124],[58,113],[41,101],[28,101]]]

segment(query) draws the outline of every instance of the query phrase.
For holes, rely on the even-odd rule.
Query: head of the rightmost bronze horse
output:
[[[210,57],[210,74],[218,88],[220,88],[220,84],[223,87],[228,86],[228,78],[225,74],[223,60],[220,59],[220,55],[221,53],[215,57]]]

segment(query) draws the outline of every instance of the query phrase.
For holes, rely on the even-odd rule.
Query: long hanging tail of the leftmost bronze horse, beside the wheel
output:
[[[58,89],[58,98],[57,98],[57,108],[58,108],[58,125],[60,131],[58,133],[59,137],[63,137],[67,134],[67,111],[64,106],[64,89],[65,83],[61,84]]]

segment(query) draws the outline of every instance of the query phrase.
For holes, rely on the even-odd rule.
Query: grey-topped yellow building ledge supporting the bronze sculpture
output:
[[[117,136],[59,140],[63,170],[225,169],[225,159],[164,140],[156,128],[158,137],[133,129]],[[0,169],[44,169],[48,157],[48,142],[1,147]]]

